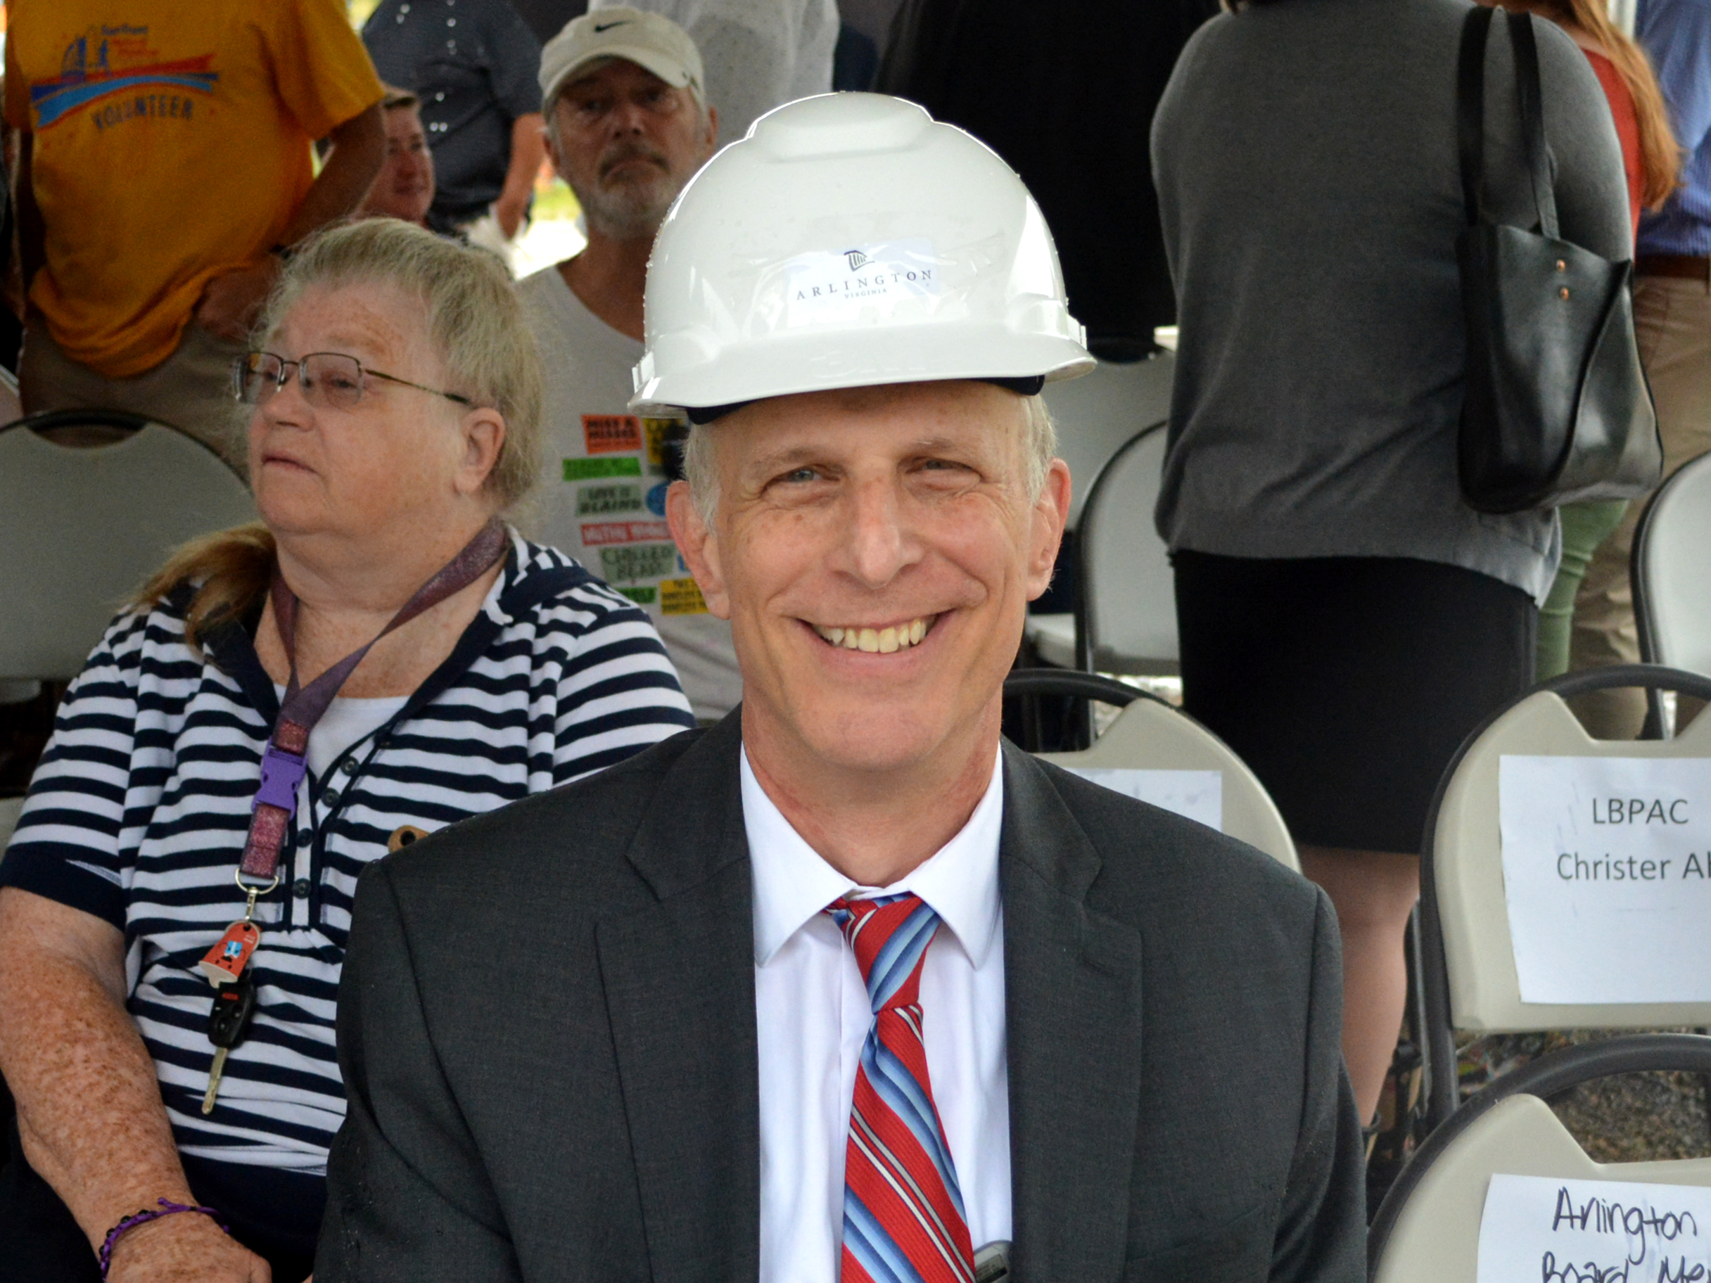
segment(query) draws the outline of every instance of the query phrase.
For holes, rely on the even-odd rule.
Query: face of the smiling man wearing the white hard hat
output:
[[[1023,399],[970,381],[821,392],[703,431],[713,520],[683,482],[669,515],[731,619],[744,737],[862,772],[991,751],[1069,506],[1063,460],[1030,493]]]

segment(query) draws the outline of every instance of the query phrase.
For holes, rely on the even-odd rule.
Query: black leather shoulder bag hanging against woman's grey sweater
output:
[[[1468,337],[1461,493],[1489,513],[1634,498],[1663,472],[1658,416],[1634,344],[1634,265],[1559,236],[1528,14],[1504,17],[1538,231],[1487,217],[1485,44],[1494,15],[1475,5],[1461,27],[1456,92],[1468,214],[1456,243]]]

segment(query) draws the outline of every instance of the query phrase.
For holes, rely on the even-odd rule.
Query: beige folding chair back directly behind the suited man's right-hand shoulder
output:
[[[1295,843],[1264,785],[1228,744],[1187,713],[1134,686],[1090,672],[1016,669],[1004,681],[1004,695],[1068,695],[1117,705],[1122,712],[1090,749],[1039,756],[1069,770],[1218,772],[1220,830],[1300,872]]]

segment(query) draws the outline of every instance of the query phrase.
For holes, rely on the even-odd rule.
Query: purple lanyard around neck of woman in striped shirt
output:
[[[375,642],[394,628],[402,628],[423,611],[438,606],[455,592],[462,592],[471,583],[486,575],[493,565],[505,556],[510,535],[505,523],[494,517],[464,544],[464,551],[452,558],[440,571],[416,590],[416,595],[404,602],[404,609],[392,616],[392,623],[380,630]],[[286,683],[286,698],[279,705],[279,720],[274,722],[274,734],[267,741],[267,753],[262,754],[262,787],[255,790],[252,804],[250,837],[243,843],[243,860],[238,864],[238,886],[253,895],[260,890],[250,888],[245,878],[257,878],[263,883],[279,883],[279,850],[286,843],[286,831],[291,816],[298,809],[298,785],[308,773],[306,753],[310,732],[332,705],[339,688],[363,662],[375,642],[361,650],[352,650],[308,686],[298,686],[298,599],[286,587],[274,566],[274,624],[279,628],[279,640],[286,647],[286,660],[291,664],[291,679]]]

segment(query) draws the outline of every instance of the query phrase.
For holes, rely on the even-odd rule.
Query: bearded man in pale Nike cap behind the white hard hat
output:
[[[589,245],[520,284],[548,373],[532,534],[642,606],[696,715],[724,717],[743,698],[731,626],[708,614],[664,520],[683,428],[628,407],[654,233],[719,133],[702,55],[667,17],[601,9],[542,50],[541,109]]]

